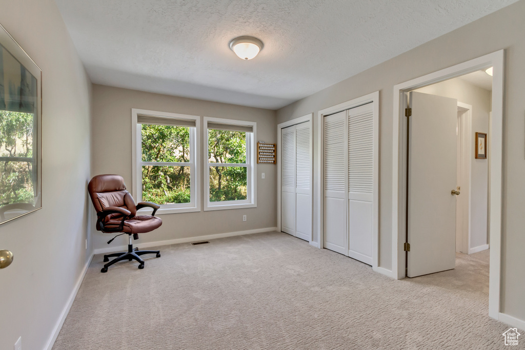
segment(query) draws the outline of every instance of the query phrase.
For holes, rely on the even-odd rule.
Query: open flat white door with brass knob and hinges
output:
[[[410,93],[407,275],[456,264],[457,100]]]

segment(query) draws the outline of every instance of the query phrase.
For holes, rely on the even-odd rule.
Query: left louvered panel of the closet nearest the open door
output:
[[[347,254],[346,111],[324,117],[324,247]]]

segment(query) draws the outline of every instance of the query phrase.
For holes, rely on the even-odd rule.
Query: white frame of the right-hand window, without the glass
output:
[[[245,164],[233,164],[233,163],[209,163],[208,159],[208,122],[230,124],[230,125],[241,125],[251,126],[253,132],[246,133],[246,163]],[[257,140],[257,123],[249,122],[244,120],[233,120],[233,119],[221,119],[212,118],[205,116],[203,125],[204,137],[203,137],[203,165],[204,165],[204,210],[225,210],[225,209],[237,209],[237,208],[255,208],[257,207],[257,166],[256,166],[256,141]],[[244,166],[247,168],[246,171],[246,199],[244,200],[227,200],[227,201],[209,201],[209,167],[210,166]]]

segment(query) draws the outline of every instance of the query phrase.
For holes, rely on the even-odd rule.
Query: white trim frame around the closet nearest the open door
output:
[[[317,147],[316,147],[316,178],[319,183],[316,189],[317,195],[317,237],[316,243],[310,243],[320,249],[324,248],[324,115],[338,113],[354,107],[359,107],[362,104],[373,103],[374,106],[374,172],[373,172],[373,188],[374,188],[374,204],[373,204],[373,218],[372,218],[372,269],[381,272],[388,276],[391,272],[380,268],[378,266],[379,260],[379,91],[369,93],[365,96],[356,99],[339,103],[329,108],[322,109],[317,112]]]

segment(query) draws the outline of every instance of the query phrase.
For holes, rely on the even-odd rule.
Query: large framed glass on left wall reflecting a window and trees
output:
[[[42,207],[41,80],[0,25],[0,224]]]

